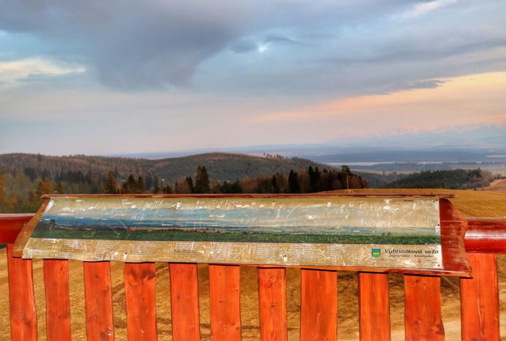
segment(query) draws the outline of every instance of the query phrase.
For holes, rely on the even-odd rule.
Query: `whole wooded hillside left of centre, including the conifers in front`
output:
[[[368,187],[347,166],[327,168],[305,159],[224,153],[164,160],[1,155],[0,213],[35,212],[39,198],[51,193],[309,193]]]

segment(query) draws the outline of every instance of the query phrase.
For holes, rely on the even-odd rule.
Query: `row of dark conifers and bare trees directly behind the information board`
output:
[[[207,169],[198,166],[196,173],[166,183],[156,176],[130,174],[125,180],[117,171],[100,176],[91,172],[66,171],[49,174],[35,169],[3,174],[0,172],[0,213],[33,213],[42,204],[44,194],[135,194],[135,193],[311,193],[346,188],[366,188],[367,181],[353,174],[348,166],[341,171],[313,169],[290,170],[258,177],[245,176],[235,181],[210,179]]]

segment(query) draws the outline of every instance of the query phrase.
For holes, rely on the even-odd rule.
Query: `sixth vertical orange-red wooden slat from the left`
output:
[[[209,265],[211,340],[241,339],[239,267]]]

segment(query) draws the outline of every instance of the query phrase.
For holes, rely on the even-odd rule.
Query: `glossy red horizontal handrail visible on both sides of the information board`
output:
[[[0,214],[0,243],[12,244],[33,214]],[[466,218],[467,252],[506,254],[506,218]]]

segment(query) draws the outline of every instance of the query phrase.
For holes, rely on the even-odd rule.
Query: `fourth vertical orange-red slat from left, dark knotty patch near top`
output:
[[[124,264],[128,339],[156,341],[155,263]]]

